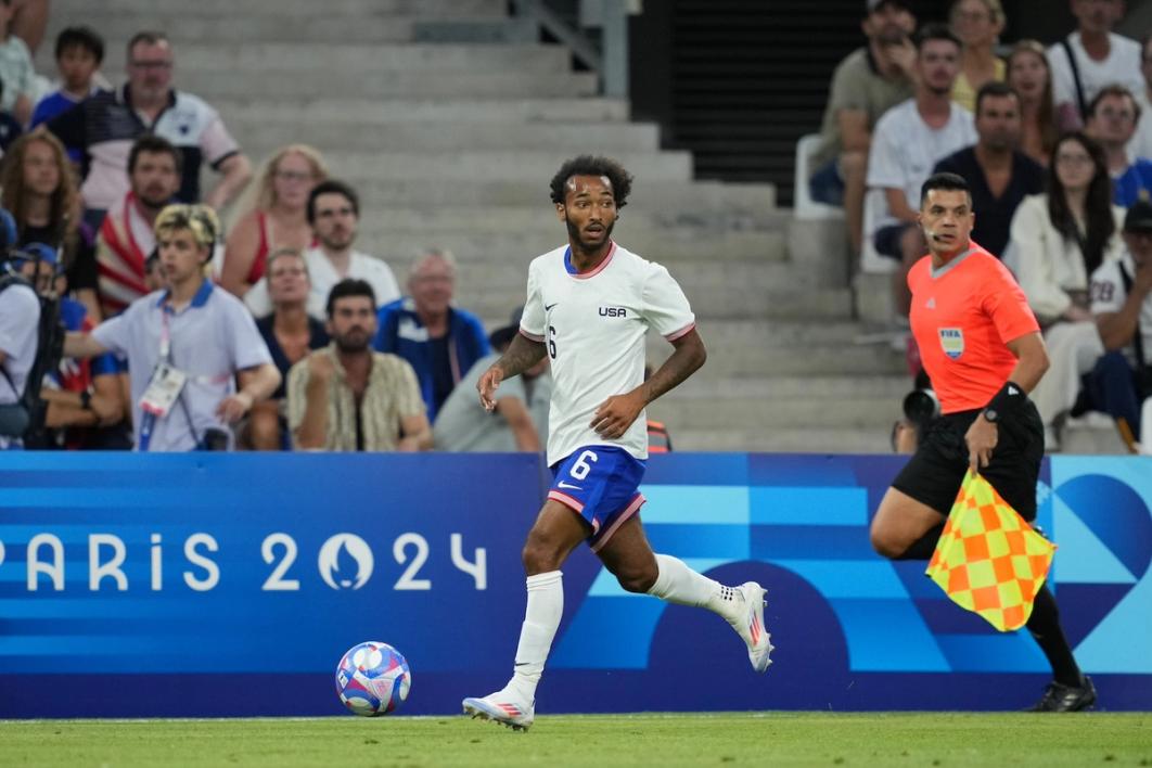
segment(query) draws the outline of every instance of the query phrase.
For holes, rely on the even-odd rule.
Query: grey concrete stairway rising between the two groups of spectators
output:
[[[652,409],[675,447],[887,450],[907,379],[887,347],[856,343],[839,225],[794,222],[771,185],[694,181],[688,153],[662,151],[655,126],[629,122],[627,101],[596,96],[566,48],[536,43],[505,9],[54,0],[50,35],[99,30],[119,83],[128,38],[167,31],[176,85],[212,102],[253,162],[289,142],[317,146],[362,193],[362,250],[402,279],[420,248],[452,249],[458,303],[492,325],[523,302],[528,263],[563,242],[552,174],[576,153],[616,157],[637,178],[616,237],[669,267],[708,345],[707,366]],[[39,63],[54,71],[51,50]],[[670,350],[650,349],[653,363]]]

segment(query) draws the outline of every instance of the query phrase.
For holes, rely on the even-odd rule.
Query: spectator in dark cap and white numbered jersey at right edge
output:
[[[1105,353],[1089,374],[1091,408],[1116,420],[1124,442],[1152,450],[1152,424],[1142,403],[1152,397],[1152,204],[1140,200],[1124,216],[1122,258],[1092,273],[1092,315]],[[1146,410],[1146,409],[1145,409]]]

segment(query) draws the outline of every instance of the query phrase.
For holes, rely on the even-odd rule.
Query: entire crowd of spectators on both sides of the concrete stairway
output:
[[[865,0],[865,45],[833,76],[811,192],[844,206],[855,250],[894,261],[907,314],[904,275],[925,250],[919,188],[937,169],[964,176],[975,239],[1016,272],[1044,324],[1053,371],[1036,398],[1049,444],[1096,408],[1136,448],[1152,425],[1116,381],[1137,404],[1150,394],[1152,36],[1114,31],[1122,0],[1069,2],[1077,28],[1045,48],[1001,41],[999,0],[956,0],[947,24],[919,26],[905,0]],[[43,0],[0,0],[0,203],[23,254],[9,271],[67,298],[70,357],[43,387],[53,444],[531,449],[546,374],[487,421],[454,401],[493,343],[454,302],[449,252],[420,254],[402,295],[380,254],[356,248],[358,191],[304,144],[253,175],[220,114],[174,88],[164,32],[132,36],[113,88],[100,36],[68,28],[59,84],[36,92],[44,13]],[[218,175],[209,190],[204,165]],[[215,211],[229,204],[225,228]],[[0,291],[0,318],[23,299]],[[20,333],[0,328],[0,405],[25,390]]]

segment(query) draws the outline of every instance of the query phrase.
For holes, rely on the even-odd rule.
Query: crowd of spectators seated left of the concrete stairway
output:
[[[546,364],[484,411],[475,380],[492,347],[455,305],[450,252],[418,256],[402,295],[389,265],[356,249],[357,190],[305,144],[253,175],[217,111],[173,86],[164,32],[132,36],[112,88],[99,33],[65,29],[59,85],[37,97],[14,13],[0,0],[0,113],[14,127],[0,121],[0,448],[22,446],[13,406],[35,389],[44,440],[26,447],[540,449]],[[67,330],[62,359],[30,388],[46,306]]]

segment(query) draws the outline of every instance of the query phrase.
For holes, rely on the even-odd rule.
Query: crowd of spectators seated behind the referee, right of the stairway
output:
[[[1123,0],[1069,7],[1076,29],[1045,48],[1000,40],[1000,0],[955,0],[948,24],[919,28],[910,2],[866,0],[866,44],[833,75],[810,191],[844,207],[854,251],[893,259],[899,320],[926,252],[920,187],[963,176],[973,241],[1014,271],[1044,329],[1052,366],[1033,398],[1048,449],[1099,410],[1152,451],[1152,30],[1115,32]]]

